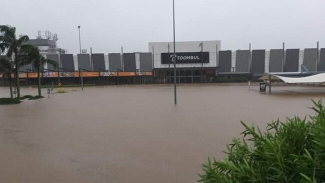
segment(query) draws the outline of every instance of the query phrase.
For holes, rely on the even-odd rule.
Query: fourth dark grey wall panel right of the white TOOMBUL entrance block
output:
[[[268,72],[282,72],[283,49],[271,49],[269,52]]]

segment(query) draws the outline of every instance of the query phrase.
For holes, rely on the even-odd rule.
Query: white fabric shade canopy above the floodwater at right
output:
[[[271,80],[282,80],[283,82],[285,82],[287,84],[325,82],[325,73],[319,73],[319,74],[310,75],[310,76],[306,76],[306,77],[284,77],[284,76],[279,76],[276,74],[267,73],[267,74],[261,76],[258,80],[268,80],[269,75],[271,76]]]

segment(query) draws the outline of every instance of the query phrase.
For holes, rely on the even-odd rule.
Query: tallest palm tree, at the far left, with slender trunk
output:
[[[14,75],[16,79],[17,96],[20,98],[19,89],[19,75],[18,70],[21,64],[18,63],[18,51],[23,47],[26,41],[29,40],[27,35],[23,35],[16,38],[16,28],[9,25],[0,25],[0,52],[6,51],[6,55],[9,57],[14,56]]]

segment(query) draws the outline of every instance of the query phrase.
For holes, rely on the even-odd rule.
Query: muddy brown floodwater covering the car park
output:
[[[225,157],[240,120],[264,128],[303,117],[313,114],[311,98],[325,96],[316,86],[269,95],[246,83],[182,84],[174,106],[170,84],[67,89],[0,105],[0,182],[196,182],[208,156]]]

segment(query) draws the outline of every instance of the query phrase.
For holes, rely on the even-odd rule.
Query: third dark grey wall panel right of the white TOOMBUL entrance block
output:
[[[251,73],[265,72],[265,49],[255,49],[251,52]]]

